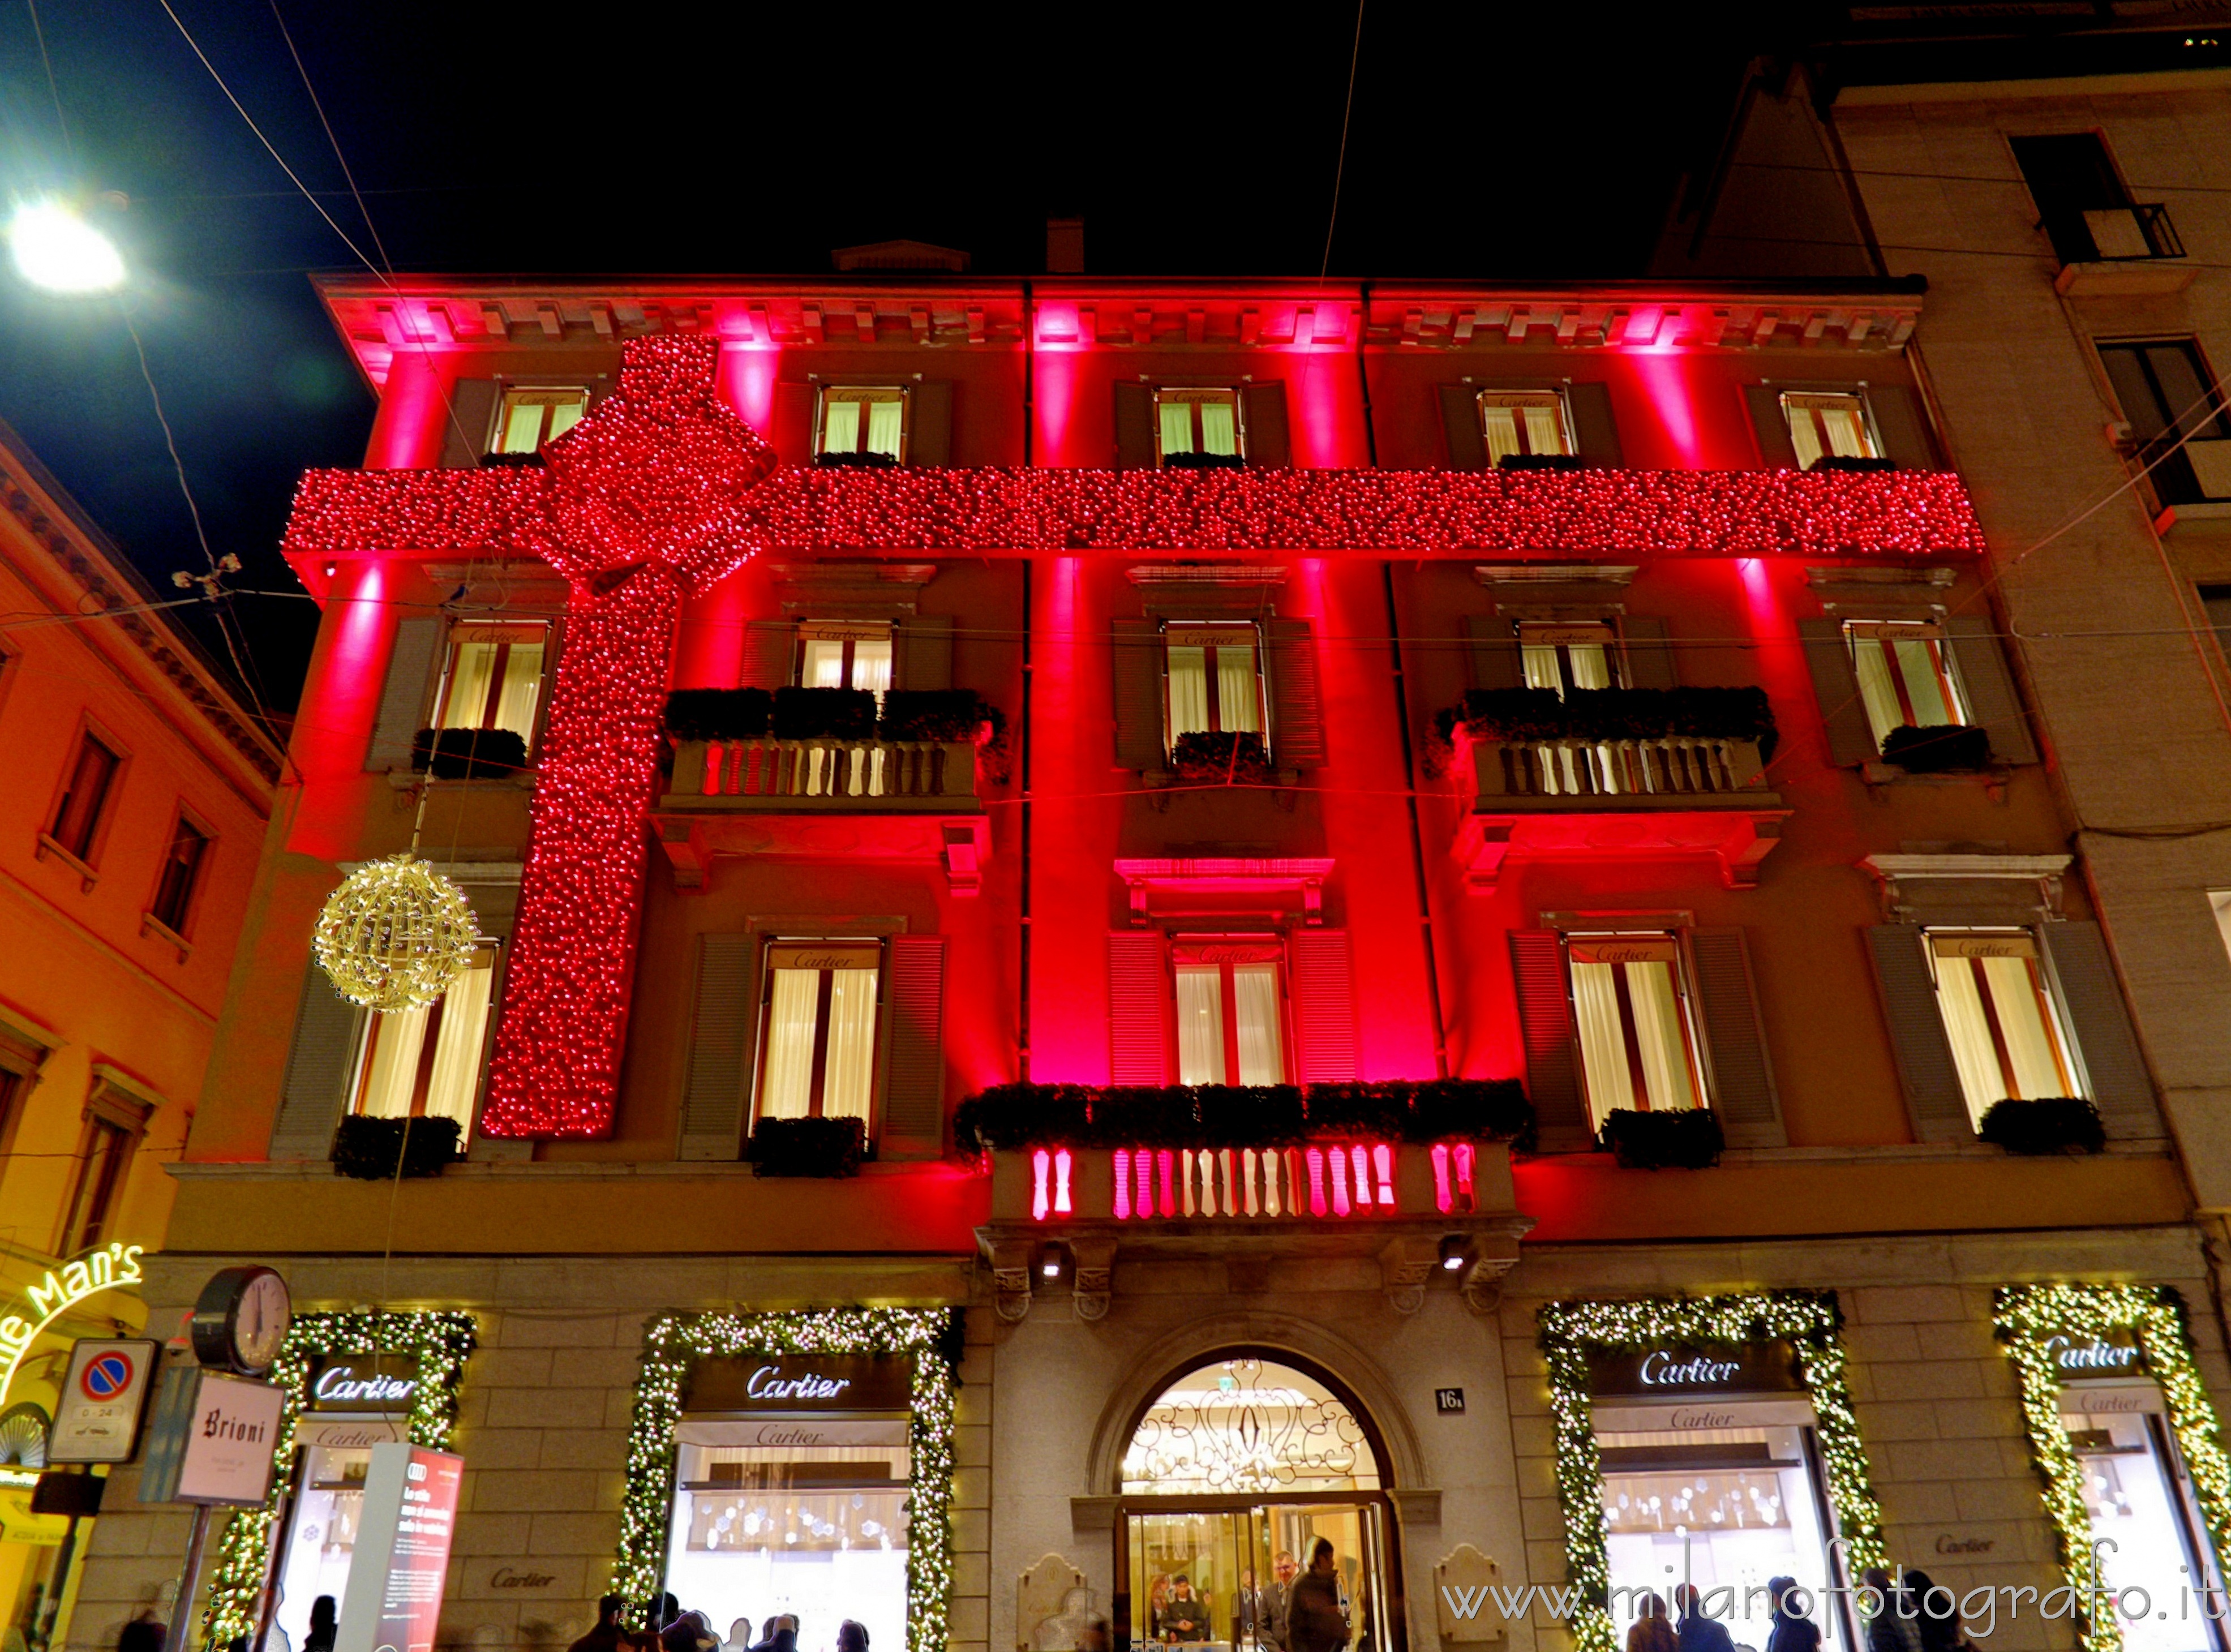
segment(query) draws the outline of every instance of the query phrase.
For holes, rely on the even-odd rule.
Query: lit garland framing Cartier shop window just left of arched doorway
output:
[[[674,1431],[692,1366],[707,1355],[861,1353],[912,1355],[906,1493],[908,1652],[946,1652],[953,1601],[953,1366],[944,1308],[830,1308],[799,1313],[669,1313],[643,1337],[636,1418],[627,1431],[627,1500],[611,1592],[638,1627],[667,1576],[674,1520]]]

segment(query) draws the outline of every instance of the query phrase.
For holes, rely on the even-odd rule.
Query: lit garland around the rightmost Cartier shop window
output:
[[[2064,1337],[2137,1337],[2146,1368],[2162,1386],[2169,1427],[2193,1478],[2193,1500],[2206,1520],[2215,1554],[2231,1554],[2231,1458],[2224,1456],[2215,1406],[2184,1324],[2184,1297],[2169,1286],[2003,1286],[1992,1299],[1992,1324],[2006,1357],[2021,1377],[2021,1420],[2030,1431],[2030,1460],[2044,1480],[2046,1514],[2061,1552],[2068,1589],[2084,1603],[2082,1641],[2090,1652],[2119,1652],[2122,1623],[2093,1552],[2090,1511],[2084,1505],[2084,1464],[2061,1427],[2061,1373],[2046,1342]]]

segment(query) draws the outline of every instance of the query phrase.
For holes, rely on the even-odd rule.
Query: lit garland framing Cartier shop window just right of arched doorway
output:
[[[1564,1507],[1568,1581],[1580,1603],[1571,1632],[1580,1652],[1617,1652],[1611,1558],[1604,1538],[1602,1458],[1588,1398],[1588,1355],[1658,1344],[1736,1344],[1787,1337],[1818,1422],[1820,1464],[1845,1563],[1885,1565],[1883,1507],[1874,1500],[1867,1453],[1845,1382],[1843,1313],[1834,1290],[1756,1290],[1731,1297],[1646,1297],[1640,1302],[1551,1302],[1542,1308],[1551,1413],[1557,1427],[1557,1500]]]

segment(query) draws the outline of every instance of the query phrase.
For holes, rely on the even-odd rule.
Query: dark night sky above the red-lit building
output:
[[[364,219],[270,0],[172,0],[303,183]],[[1640,270],[1722,123],[1736,9],[1365,0],[1334,275]],[[399,270],[814,272],[917,237],[1042,268],[1086,219],[1095,275],[1316,275],[1356,13],[1345,4],[622,7],[281,0]],[[1698,22],[1698,18],[1716,18]],[[1055,22],[1055,18],[1069,18]],[[361,268],[158,0],[0,0],[0,199],[116,190],[129,308],[212,549],[243,589],[301,469],[352,464],[370,395],[308,286]],[[0,417],[152,580],[199,569],[116,299],[0,272]],[[167,592],[165,592],[167,594]],[[299,598],[239,596],[265,701],[294,703]]]

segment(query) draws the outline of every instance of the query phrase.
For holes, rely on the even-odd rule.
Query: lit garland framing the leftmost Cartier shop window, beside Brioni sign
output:
[[[457,1382],[477,1333],[469,1313],[306,1313],[286,1333],[270,1368],[279,1386],[279,1433],[272,1438],[272,1489],[261,1509],[241,1509],[225,1523],[201,1616],[201,1643],[225,1645],[254,1636],[257,1607],[272,1563],[272,1527],[292,1487],[294,1422],[310,1398],[310,1362],[321,1355],[393,1353],[417,1360],[417,1386],[404,1431],[411,1444],[442,1451],[457,1427]]]

